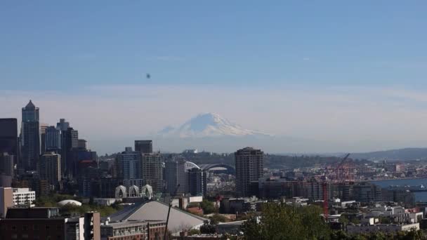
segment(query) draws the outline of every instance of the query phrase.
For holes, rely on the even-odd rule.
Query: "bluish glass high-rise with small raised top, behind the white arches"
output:
[[[117,178],[141,178],[141,153],[133,152],[132,147],[126,147],[124,152],[117,154],[115,164],[117,168]]]

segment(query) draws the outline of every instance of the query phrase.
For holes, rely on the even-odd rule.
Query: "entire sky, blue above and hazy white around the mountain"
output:
[[[426,146],[426,11],[426,1],[1,1],[0,117],[20,119],[32,99],[42,121],[66,118],[89,142],[216,112],[348,151]],[[346,152],[336,148],[325,152]]]

